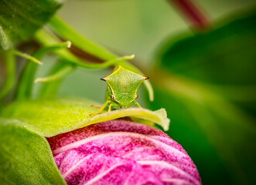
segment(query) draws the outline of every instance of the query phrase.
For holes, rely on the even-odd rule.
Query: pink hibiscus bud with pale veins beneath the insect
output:
[[[112,120],[47,140],[67,184],[201,184],[182,146],[151,126]]]

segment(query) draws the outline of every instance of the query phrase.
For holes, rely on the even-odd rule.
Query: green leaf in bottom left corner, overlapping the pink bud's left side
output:
[[[0,118],[1,184],[66,184],[43,136],[24,123]]]

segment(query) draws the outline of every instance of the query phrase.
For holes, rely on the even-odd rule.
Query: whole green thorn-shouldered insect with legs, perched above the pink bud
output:
[[[106,102],[96,113],[91,113],[90,116],[101,113],[108,105],[108,111],[111,111],[111,108],[128,108],[133,105],[141,108],[135,99],[138,98],[138,86],[140,86],[145,79],[148,79],[148,77],[131,72],[122,66],[118,66],[110,76],[101,78],[101,80],[108,83],[105,97]]]

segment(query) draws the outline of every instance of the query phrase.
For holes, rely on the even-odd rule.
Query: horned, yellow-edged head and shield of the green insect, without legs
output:
[[[147,76],[131,72],[121,66],[118,66],[110,76],[102,78],[108,83],[111,91],[110,98],[121,107],[128,107],[138,98],[138,86]]]

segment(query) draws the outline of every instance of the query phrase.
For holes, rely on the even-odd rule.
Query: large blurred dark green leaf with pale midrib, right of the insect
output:
[[[255,181],[255,18],[243,15],[208,32],[170,39],[151,78],[158,97],[152,107],[166,107],[169,135],[186,145],[207,184]],[[212,173],[220,169],[216,179]]]

